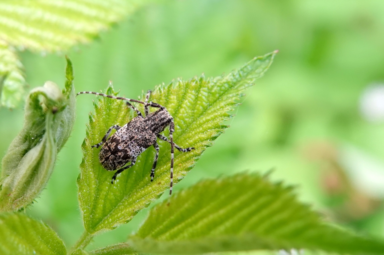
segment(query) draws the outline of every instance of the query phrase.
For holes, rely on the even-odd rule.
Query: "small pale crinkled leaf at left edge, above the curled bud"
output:
[[[22,70],[23,65],[13,47],[0,40],[0,106],[14,108],[23,100],[26,83]]]

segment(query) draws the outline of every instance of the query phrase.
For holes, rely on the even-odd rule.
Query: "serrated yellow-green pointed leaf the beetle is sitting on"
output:
[[[174,183],[186,175],[205,148],[224,132],[227,126],[223,121],[231,116],[228,111],[234,109],[244,90],[264,74],[275,54],[254,58],[228,75],[178,79],[154,90],[150,100],[166,106],[174,117],[174,142],[180,147],[196,148],[185,153],[175,150]],[[112,87],[106,93],[116,95]],[[138,211],[159,198],[170,184],[170,145],[164,141],[158,142],[160,154],[153,182],[149,175],[155,150],[150,147],[138,157],[134,167],[122,172],[118,181],[111,184],[114,173],[101,166],[100,149],[91,148],[91,145],[100,142],[109,127],[123,126],[132,115],[123,100],[103,97],[94,106],[95,112],[89,115],[82,145],[84,157],[78,179],[84,226],[91,234],[130,221]],[[143,110],[142,106],[138,107]],[[166,131],[164,135],[167,134]]]

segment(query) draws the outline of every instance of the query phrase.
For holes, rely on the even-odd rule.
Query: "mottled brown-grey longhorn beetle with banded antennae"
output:
[[[108,171],[117,170],[112,177],[111,183],[116,180],[116,177],[122,171],[132,167],[136,163],[137,157],[144,152],[151,145],[156,149],[156,156],[151,170],[151,181],[155,176],[155,168],[157,158],[159,157],[159,145],[157,144],[157,138],[170,143],[170,190],[169,195],[172,194],[173,186],[173,163],[174,163],[174,147],[181,152],[189,152],[194,150],[194,147],[181,148],[173,142],[173,132],[175,132],[175,124],[173,117],[169,114],[167,109],[159,105],[158,103],[148,102],[151,90],[148,90],[145,101],[139,101],[130,98],[124,98],[120,96],[110,96],[98,92],[83,91],[76,94],[95,94],[98,96],[106,96],[109,98],[125,100],[126,105],[136,111],[137,116],[129,121],[124,126],[118,125],[111,126],[101,142],[92,147],[101,147],[99,152],[99,160],[103,167]],[[145,117],[141,112],[137,110],[129,102],[141,103],[144,105]],[[149,106],[159,108],[159,110],[149,113]],[[160,133],[169,125],[169,140],[167,137],[162,136]],[[116,129],[116,132],[108,138],[112,129]],[[129,165],[126,163],[131,162]],[[126,165],[126,166],[124,166]]]

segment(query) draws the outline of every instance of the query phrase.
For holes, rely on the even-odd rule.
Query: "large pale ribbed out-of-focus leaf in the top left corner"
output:
[[[63,51],[88,43],[142,0],[2,0],[0,38],[18,49]]]

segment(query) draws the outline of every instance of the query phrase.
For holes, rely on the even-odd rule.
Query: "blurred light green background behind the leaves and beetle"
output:
[[[325,217],[384,236],[384,2],[170,0],[150,2],[89,45],[68,53],[76,91],[108,81],[135,98],[173,78],[221,75],[280,50],[242,98],[230,128],[179,190],[205,177],[268,172]],[[64,84],[64,56],[22,52],[30,87]],[[384,83],[383,83],[384,84]],[[76,178],[93,96],[77,98],[72,135],[38,203],[27,213],[67,245],[83,232]],[[23,110],[0,109],[0,155],[20,131]],[[146,216],[99,235],[90,249],[126,240]]]

